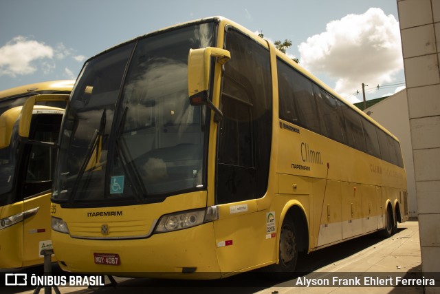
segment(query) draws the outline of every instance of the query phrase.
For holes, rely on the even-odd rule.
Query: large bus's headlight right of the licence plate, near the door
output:
[[[177,231],[198,226],[205,222],[206,209],[171,213],[162,216],[157,222],[155,233]]]

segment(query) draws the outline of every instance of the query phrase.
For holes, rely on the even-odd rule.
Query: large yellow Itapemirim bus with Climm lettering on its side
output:
[[[392,134],[212,17],[86,61],[61,127],[52,242],[71,272],[291,273],[300,252],[393,234],[405,199]]]

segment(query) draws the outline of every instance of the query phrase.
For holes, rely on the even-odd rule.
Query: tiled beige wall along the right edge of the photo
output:
[[[397,0],[397,8],[415,168],[422,269],[425,273],[438,273],[440,272],[440,0]],[[426,293],[436,293],[437,289],[426,288]]]

